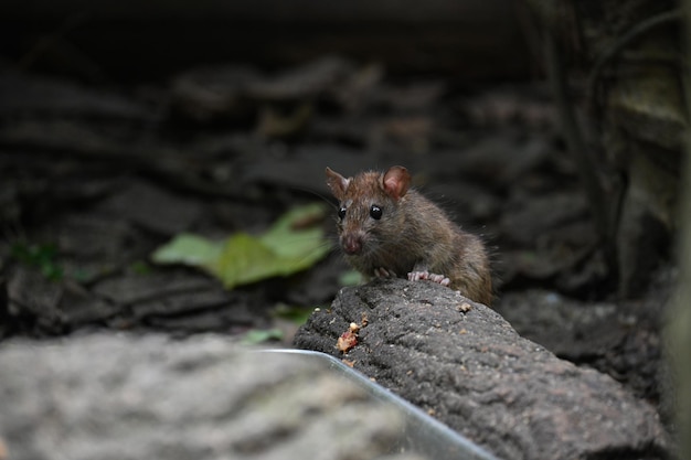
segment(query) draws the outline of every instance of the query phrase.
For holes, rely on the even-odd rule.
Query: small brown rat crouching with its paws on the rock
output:
[[[491,303],[485,244],[413,190],[406,168],[348,179],[330,168],[326,173],[327,185],[339,201],[339,244],[354,269],[368,278],[426,279],[476,302]]]

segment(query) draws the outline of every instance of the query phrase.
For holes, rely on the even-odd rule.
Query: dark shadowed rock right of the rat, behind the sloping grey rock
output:
[[[666,424],[670,410],[663,398],[670,379],[660,338],[665,314],[659,309],[668,302],[670,281],[663,277],[658,275],[655,292],[629,303],[584,302],[530,289],[504,292],[492,308],[522,336],[561,359],[612,376],[636,397],[656,405]]]

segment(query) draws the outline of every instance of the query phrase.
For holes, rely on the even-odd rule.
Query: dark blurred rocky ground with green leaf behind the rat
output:
[[[680,24],[657,0],[6,0],[0,338],[290,346],[362,282],[325,168],[404,164],[486,240],[497,311],[669,421]]]

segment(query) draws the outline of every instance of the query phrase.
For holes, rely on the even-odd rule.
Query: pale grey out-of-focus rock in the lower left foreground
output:
[[[0,368],[2,459],[374,459],[403,424],[347,379],[217,336],[8,342]]]

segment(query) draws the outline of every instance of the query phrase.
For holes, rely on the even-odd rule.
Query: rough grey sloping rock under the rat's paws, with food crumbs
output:
[[[361,327],[344,354],[338,338]],[[430,282],[340,291],[295,344],[341,356],[379,384],[507,459],[666,458],[651,406],[609,376],[521,338],[493,310]]]

